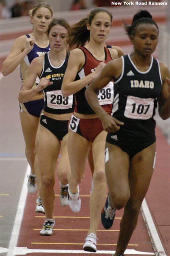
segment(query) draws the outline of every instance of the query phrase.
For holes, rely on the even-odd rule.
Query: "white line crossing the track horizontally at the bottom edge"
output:
[[[14,249],[14,252],[16,255],[26,255],[27,253],[73,253],[73,254],[88,254],[91,252],[86,252],[84,250],[40,250],[40,249],[28,249],[27,247],[16,247]],[[115,251],[111,250],[97,250],[97,254],[110,254],[115,253]],[[130,255],[155,255],[155,253],[145,253],[145,252],[139,252],[136,250],[125,250],[125,254]]]

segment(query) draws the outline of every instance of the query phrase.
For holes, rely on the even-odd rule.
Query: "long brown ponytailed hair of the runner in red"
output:
[[[94,8],[88,17],[83,18],[78,23],[74,24],[69,30],[68,30],[68,37],[67,37],[67,43],[69,45],[70,49],[83,46],[87,41],[90,39],[90,32],[87,29],[87,23],[91,25],[92,20],[94,19],[94,16],[99,12],[106,12],[111,17],[111,23],[112,23],[112,13],[109,12],[105,8]]]

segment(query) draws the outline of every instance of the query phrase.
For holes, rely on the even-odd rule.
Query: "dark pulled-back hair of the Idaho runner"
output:
[[[154,24],[157,27],[158,32],[159,32],[158,25],[152,19],[152,15],[147,10],[140,10],[133,16],[131,26],[128,25],[127,23],[124,23],[124,29],[129,38],[131,35],[135,34],[136,27],[141,23]]]

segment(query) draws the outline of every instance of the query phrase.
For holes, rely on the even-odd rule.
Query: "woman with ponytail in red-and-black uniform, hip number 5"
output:
[[[105,41],[111,29],[112,14],[104,8],[93,9],[87,18],[80,20],[68,33],[71,51],[68,67],[62,82],[62,94],[65,97],[75,93],[76,108],[71,116],[68,131],[68,155],[71,172],[68,173],[68,205],[79,212],[81,199],[79,186],[84,172],[89,147],[92,144],[94,158],[94,189],[90,197],[90,229],[83,249],[96,252],[96,232],[100,222],[100,209],[106,197],[106,179],[104,148],[106,132],[102,123],[85,100],[85,88],[101,72],[102,68],[118,53],[105,47]],[[86,44],[86,42],[88,43]],[[85,45],[85,46],[84,46]],[[113,83],[109,83],[98,95],[100,104],[111,113],[113,101]]]

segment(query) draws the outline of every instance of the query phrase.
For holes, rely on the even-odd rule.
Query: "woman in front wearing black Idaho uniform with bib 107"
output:
[[[105,145],[105,173],[109,194],[101,220],[110,228],[115,210],[124,209],[115,256],[123,256],[136,227],[156,160],[153,119],[157,102],[162,119],[170,116],[170,71],[153,58],[159,28],[146,10],[133,17],[125,31],[133,52],[111,61],[85,92],[89,105],[108,131]],[[97,99],[97,92],[114,78],[113,117]],[[119,121],[118,121],[119,120]]]

